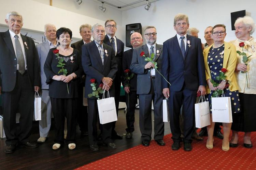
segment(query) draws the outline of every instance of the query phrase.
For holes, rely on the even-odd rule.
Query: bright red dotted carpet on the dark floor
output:
[[[222,139],[214,138],[213,149],[204,141],[193,141],[193,150],[186,152],[183,144],[178,151],[171,150],[171,134],[164,137],[166,146],[158,146],[153,140],[149,147],[139,145],[105,157],[77,169],[256,169],[256,132],[251,135],[253,148],[243,147],[243,135],[239,133],[239,145],[222,151]]]

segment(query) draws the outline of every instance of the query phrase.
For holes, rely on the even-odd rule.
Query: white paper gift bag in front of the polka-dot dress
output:
[[[212,121],[223,123],[232,122],[230,97],[212,98]]]

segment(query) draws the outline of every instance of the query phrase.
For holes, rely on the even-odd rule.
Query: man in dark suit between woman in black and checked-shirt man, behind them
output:
[[[91,42],[91,25],[83,24],[79,28],[80,35],[82,36],[82,40],[77,41],[76,43],[71,44],[71,47],[77,49],[82,54],[82,45],[88,44]],[[85,84],[85,74],[82,77],[82,81],[79,84],[79,104],[77,113],[77,122],[80,127],[81,136],[88,135],[88,113],[87,106],[83,106],[83,89]]]

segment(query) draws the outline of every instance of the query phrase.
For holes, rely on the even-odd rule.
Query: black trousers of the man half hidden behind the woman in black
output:
[[[84,98],[84,84],[79,84],[79,92],[78,92],[78,112],[77,112],[77,123],[79,125],[81,132],[88,131],[88,113],[87,106],[83,106],[83,98]]]

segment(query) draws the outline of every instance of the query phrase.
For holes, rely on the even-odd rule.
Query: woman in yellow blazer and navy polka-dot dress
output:
[[[217,24],[212,29],[212,38],[214,44],[203,51],[205,73],[207,80],[206,88],[206,100],[210,104],[211,109],[211,97],[214,91],[217,89],[224,90],[225,97],[231,98],[231,109],[232,113],[240,112],[239,94],[238,94],[238,84],[234,70],[236,68],[237,54],[234,45],[224,42],[226,36],[226,27],[223,24]],[[227,69],[225,72],[226,80],[218,81],[216,77],[221,72],[221,69]],[[217,87],[213,87],[211,79],[216,83],[219,83]],[[228,86],[229,85],[229,86]],[[222,95],[221,95],[222,96]],[[210,114],[211,115],[211,114]],[[229,134],[232,123],[223,123],[224,139],[222,142],[222,150],[229,150]],[[208,149],[213,148],[213,130],[215,122],[207,126],[208,139],[206,147]]]

